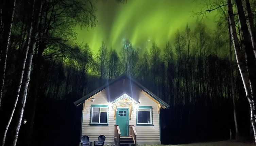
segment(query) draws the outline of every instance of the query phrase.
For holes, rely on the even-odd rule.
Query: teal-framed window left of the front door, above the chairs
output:
[[[91,105],[90,124],[98,125],[108,124],[108,106],[107,105]]]

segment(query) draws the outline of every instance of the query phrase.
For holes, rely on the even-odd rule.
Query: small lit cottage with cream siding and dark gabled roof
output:
[[[160,109],[169,105],[125,74],[74,102],[83,104],[81,136],[105,144],[161,144]]]

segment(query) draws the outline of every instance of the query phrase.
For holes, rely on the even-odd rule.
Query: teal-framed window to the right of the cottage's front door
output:
[[[137,110],[137,125],[153,126],[151,106],[139,106]]]

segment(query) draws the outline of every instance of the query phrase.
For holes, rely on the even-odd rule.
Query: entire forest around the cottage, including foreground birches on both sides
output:
[[[211,7],[195,14],[203,15],[196,26],[177,30],[165,48],[155,42],[149,49],[136,48],[127,38],[122,48],[102,40],[93,52],[86,42],[75,41],[74,29],[97,27],[93,1],[0,0],[2,146],[78,145],[82,107],[73,102],[123,73],[170,105],[160,115],[163,144],[252,140],[249,95],[236,50],[238,44],[246,52],[245,36],[250,34],[243,31],[243,7],[237,2],[241,0],[234,6],[230,0],[209,2]],[[250,2],[243,1],[244,7],[252,7],[243,15],[252,18],[252,29],[256,1]],[[218,12],[217,30],[204,24],[211,11]],[[249,76],[255,76],[250,74],[255,74],[254,63],[245,61],[251,66]]]

